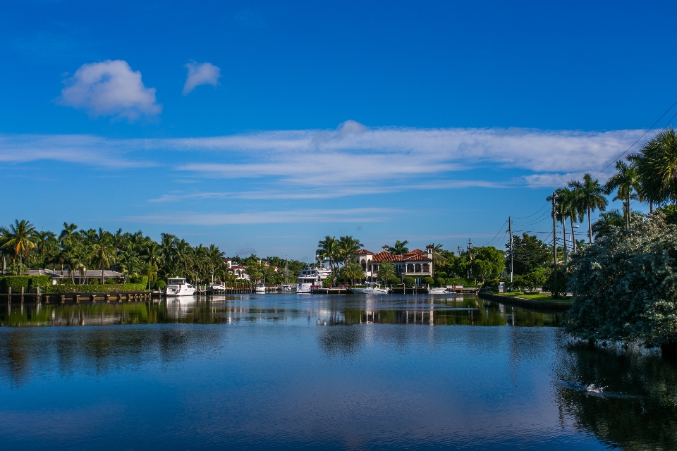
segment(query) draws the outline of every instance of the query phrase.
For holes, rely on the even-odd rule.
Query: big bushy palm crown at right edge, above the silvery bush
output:
[[[677,135],[673,128],[660,132],[628,159],[637,165],[640,194],[647,201],[677,202]]]

